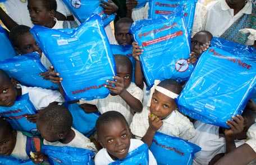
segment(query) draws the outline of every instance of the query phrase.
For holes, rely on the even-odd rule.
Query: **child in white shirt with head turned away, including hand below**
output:
[[[53,104],[40,112],[36,127],[44,139],[44,145],[70,146],[96,152],[97,149],[90,139],[71,127],[72,122],[72,115],[67,108]],[[44,154],[38,152],[35,155],[35,162],[44,161]]]

